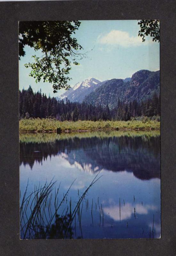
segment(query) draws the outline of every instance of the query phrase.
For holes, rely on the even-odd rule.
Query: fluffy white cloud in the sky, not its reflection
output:
[[[148,40],[146,40],[148,42]],[[98,43],[120,45],[123,47],[139,46],[142,39],[139,36],[130,36],[128,32],[120,30],[111,30],[108,34],[98,36]]]

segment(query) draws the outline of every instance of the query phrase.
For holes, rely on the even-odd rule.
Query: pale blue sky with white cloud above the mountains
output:
[[[100,81],[112,78],[131,77],[140,69],[159,70],[159,43],[152,42],[148,36],[142,42],[138,37],[137,20],[83,20],[74,35],[79,44],[88,52],[80,65],[71,65],[69,76],[71,86],[86,78],[94,77]],[[25,47],[26,55],[19,61],[19,87],[27,89],[31,85],[34,91],[42,89],[48,96],[57,96],[65,90],[53,93],[52,84],[35,83],[29,77],[30,69],[24,64],[33,62],[31,56],[37,55],[33,48]]]

